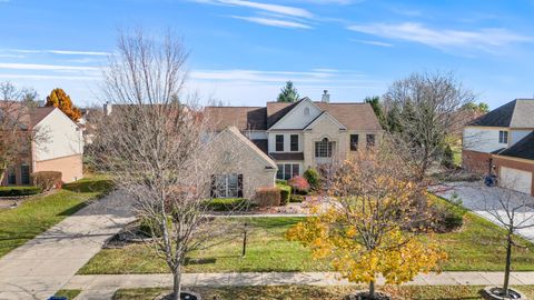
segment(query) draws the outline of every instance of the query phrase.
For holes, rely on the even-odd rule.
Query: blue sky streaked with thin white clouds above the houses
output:
[[[0,81],[96,103],[118,28],[170,28],[187,91],[235,106],[362,101],[413,71],[453,70],[492,108],[534,97],[534,0],[0,0]]]

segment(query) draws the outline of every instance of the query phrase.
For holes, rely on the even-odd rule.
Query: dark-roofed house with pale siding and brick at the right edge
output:
[[[534,194],[534,99],[516,99],[464,129],[463,167],[495,173],[501,184]]]

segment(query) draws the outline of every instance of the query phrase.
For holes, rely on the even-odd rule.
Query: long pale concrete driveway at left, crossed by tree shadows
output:
[[[107,239],[132,221],[113,192],[0,259],[0,299],[48,299],[68,283]]]

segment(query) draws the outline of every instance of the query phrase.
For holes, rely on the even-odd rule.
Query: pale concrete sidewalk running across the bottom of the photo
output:
[[[443,272],[419,274],[412,286],[500,286],[502,272]],[[268,272],[268,273],[185,273],[184,286],[346,286],[334,272]],[[378,284],[384,284],[380,279]],[[512,272],[511,284],[534,284],[534,272]],[[172,286],[171,274],[109,274],[75,276],[63,289],[80,289],[77,300],[111,299],[118,289],[128,288],[168,288]]]

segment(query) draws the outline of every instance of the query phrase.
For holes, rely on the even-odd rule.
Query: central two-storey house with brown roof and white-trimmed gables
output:
[[[320,102],[303,98],[295,103],[267,102],[266,107],[207,107],[214,130],[248,140],[246,148],[260,161],[250,164],[247,157],[235,161],[231,172],[217,171],[217,180],[229,182],[221,188],[226,190],[222,197],[237,187],[249,198],[259,187],[275,186],[275,179],[301,176],[308,168],[340,161],[379,141],[383,129],[368,103],[330,103],[328,98],[325,93]],[[253,179],[251,170],[263,176]]]

